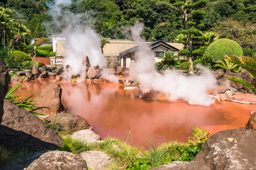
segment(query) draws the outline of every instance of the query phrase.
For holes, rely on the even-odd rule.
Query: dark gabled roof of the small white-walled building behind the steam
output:
[[[170,48],[171,48],[171,49],[173,49],[174,51],[179,51],[179,49],[177,49],[176,47],[171,46],[171,45],[169,45],[169,44],[167,44],[166,42],[161,41],[161,40],[159,40],[159,41],[154,41],[154,42],[149,42],[149,43],[147,43],[146,45],[148,45],[149,47],[151,47],[151,49],[155,49],[156,47],[163,46],[163,47],[165,47],[166,49],[170,49]],[[127,54],[127,53],[134,53],[135,51],[137,51],[137,50],[139,49],[140,46],[141,46],[141,45],[132,47],[132,48],[130,48],[130,49],[128,49],[128,50],[125,50],[125,51],[120,52],[119,54],[120,54],[120,55],[123,55],[123,54]]]

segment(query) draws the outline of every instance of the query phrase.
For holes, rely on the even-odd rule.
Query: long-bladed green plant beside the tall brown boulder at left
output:
[[[39,109],[42,110],[42,108],[47,108],[47,107],[37,107],[36,102],[30,99],[32,96],[18,97],[16,95],[12,95],[12,93],[15,90],[17,90],[20,86],[22,86],[22,84],[15,86],[9,92],[7,92],[7,94],[5,95],[5,99],[9,100],[10,102],[14,103],[16,106],[18,106],[22,109],[26,109],[27,111],[34,114],[35,116],[44,116],[43,114],[38,114],[35,111],[37,111]]]

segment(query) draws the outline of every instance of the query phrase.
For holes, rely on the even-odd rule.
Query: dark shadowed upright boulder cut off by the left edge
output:
[[[0,59],[0,124],[2,122],[2,115],[4,114],[4,98],[9,88],[9,73],[5,63]]]

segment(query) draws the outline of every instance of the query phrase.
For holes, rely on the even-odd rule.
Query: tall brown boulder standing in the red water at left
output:
[[[61,102],[62,88],[58,83],[51,83],[44,87],[39,94],[34,99],[37,102],[38,107],[48,107],[43,108],[43,110],[38,110],[41,114],[59,114],[65,111],[64,106]]]

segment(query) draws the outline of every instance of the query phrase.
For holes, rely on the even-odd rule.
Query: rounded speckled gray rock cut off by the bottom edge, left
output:
[[[34,160],[26,170],[87,170],[87,165],[74,153],[49,151]]]

